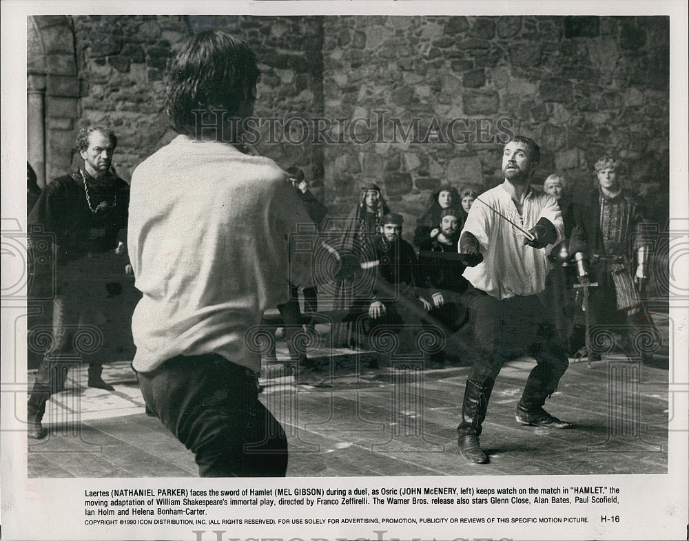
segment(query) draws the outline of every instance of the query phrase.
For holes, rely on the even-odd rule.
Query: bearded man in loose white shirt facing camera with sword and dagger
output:
[[[511,357],[526,353],[537,363],[517,404],[517,423],[570,426],[543,409],[568,359],[555,329],[543,320],[537,297],[548,273],[548,248],[564,234],[555,199],[530,187],[539,160],[539,147],[531,138],[510,140],[502,155],[504,182],[477,198],[460,237],[460,253],[483,255],[481,263],[464,271],[471,282],[467,293],[477,358],[466,381],[457,433],[460,453],[473,463],[489,460],[479,436],[495,378]]]

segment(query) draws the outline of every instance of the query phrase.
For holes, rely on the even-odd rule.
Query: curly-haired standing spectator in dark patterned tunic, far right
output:
[[[590,324],[626,326],[634,336],[654,328],[640,298],[650,266],[644,209],[635,193],[621,187],[617,160],[601,158],[595,170],[597,189],[574,205],[571,250],[590,264],[590,272],[582,269],[586,274],[579,278],[598,283],[588,297]],[[589,360],[600,358],[599,352],[592,352]],[[652,361],[652,354],[641,352],[641,361]]]

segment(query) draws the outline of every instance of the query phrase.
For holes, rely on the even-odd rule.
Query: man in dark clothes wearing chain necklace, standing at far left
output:
[[[52,308],[52,344],[39,365],[36,381],[28,399],[28,436],[45,437],[41,425],[45,404],[52,394],[63,390],[70,364],[81,357],[79,344],[93,328],[89,315],[107,293],[96,271],[108,251],[123,253],[124,244],[117,235],[127,226],[129,186],[111,174],[112,153],[117,145],[115,134],[107,127],[81,129],[76,147],[83,159],[79,170],[56,178],[43,189],[28,215],[30,249],[41,243],[39,233],[52,235],[56,254],[56,292]],[[38,261],[38,257],[34,257]],[[52,279],[52,270],[35,269],[35,281]],[[90,323],[86,335],[80,328]],[[80,327],[81,326],[81,327]],[[98,359],[89,363],[88,386],[112,391],[101,378],[103,365]]]

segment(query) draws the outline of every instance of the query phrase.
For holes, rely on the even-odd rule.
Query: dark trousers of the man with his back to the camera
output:
[[[258,400],[251,370],[205,354],[137,376],[146,405],[196,455],[201,477],[285,476],[285,431]]]

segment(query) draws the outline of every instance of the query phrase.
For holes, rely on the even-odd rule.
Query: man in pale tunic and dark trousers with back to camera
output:
[[[143,293],[132,365],[147,406],[194,452],[202,477],[287,469],[285,432],[258,401],[248,336],[265,308],[287,300],[286,236],[311,221],[285,171],[241,151],[237,128],[253,112],[258,76],[243,40],[192,36],[167,80],[179,135],[132,177],[128,238]],[[227,131],[218,133],[218,115]]]

